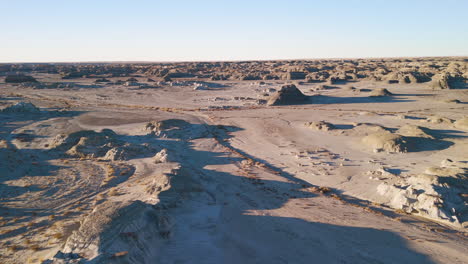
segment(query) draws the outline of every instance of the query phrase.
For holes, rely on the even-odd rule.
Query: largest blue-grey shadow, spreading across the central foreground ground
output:
[[[174,134],[163,136],[188,134],[203,126],[182,125],[172,128]],[[223,142],[229,137],[226,130],[217,126],[205,128],[208,133],[200,133],[195,138],[214,137]],[[230,127],[229,131],[233,129]],[[153,206],[151,213],[135,212],[136,207],[142,206],[139,201],[120,209],[116,214],[119,217],[100,234],[100,255],[92,260],[83,258],[83,263],[432,263],[389,231],[294,217],[249,215],[252,210],[275,210],[291,199],[314,198],[316,194],[304,190],[312,185],[271,165],[270,169],[278,171],[286,182],[258,178],[255,171],[242,177],[209,169],[213,165],[255,160],[227,143],[222,144],[228,148],[226,151],[214,152],[197,150],[189,138],[155,140],[170,151],[183,150],[183,154],[176,153],[180,155],[177,158],[182,167],[168,175],[171,188],[158,195],[160,202]],[[232,157],[233,152],[237,157]],[[173,220],[171,228],[161,225],[162,216],[185,207],[190,208],[193,217],[180,216]],[[219,210],[212,215],[216,219],[213,224],[201,228],[202,231],[190,228],[195,225],[191,221],[200,225],[213,208]],[[311,206],[304,210],[315,209]],[[128,222],[138,214],[149,222]],[[148,241],[152,242],[148,244]],[[177,250],[168,250],[171,246]],[[118,252],[125,254],[117,255]],[[60,253],[57,258],[79,257],[71,254]]]

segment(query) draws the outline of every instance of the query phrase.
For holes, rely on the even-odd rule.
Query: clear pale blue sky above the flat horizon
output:
[[[468,0],[0,0],[0,62],[468,56]]]

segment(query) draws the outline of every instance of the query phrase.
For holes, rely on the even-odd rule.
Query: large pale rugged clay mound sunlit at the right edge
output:
[[[455,226],[467,227],[463,195],[468,190],[466,163],[444,160],[441,166],[402,178],[396,184],[381,183],[377,192],[389,206]]]

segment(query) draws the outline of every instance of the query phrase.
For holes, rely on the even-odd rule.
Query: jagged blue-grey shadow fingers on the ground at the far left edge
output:
[[[26,127],[35,122],[41,122],[56,117],[73,117],[80,115],[83,112],[69,111],[60,112],[54,109],[41,109],[40,113],[1,113],[0,112],[0,141],[5,146],[0,147],[0,216],[4,220],[10,222],[18,217],[23,218],[22,221],[29,221],[36,216],[48,215],[47,211],[50,208],[17,208],[13,205],[6,206],[6,203],[14,203],[23,201],[20,196],[30,193],[47,190],[48,187],[39,186],[32,183],[31,185],[11,185],[9,181],[19,180],[25,176],[48,176],[53,175],[57,170],[63,169],[63,166],[56,166],[50,163],[51,159],[57,158],[48,155],[46,150],[33,148],[17,148],[14,141],[20,143],[31,142],[36,139],[42,139],[43,136],[34,134],[34,131],[25,131],[24,133],[13,133],[14,130]],[[15,220],[15,223],[18,221]],[[26,229],[18,229],[14,232],[9,232],[0,235],[0,240],[18,235],[25,232]]]

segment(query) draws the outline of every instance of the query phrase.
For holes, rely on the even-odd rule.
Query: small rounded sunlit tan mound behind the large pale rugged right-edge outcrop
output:
[[[408,151],[406,140],[402,136],[388,131],[365,136],[362,143],[374,152],[404,153]]]

